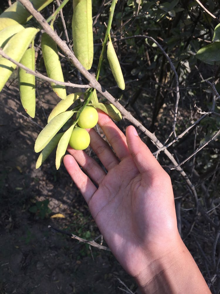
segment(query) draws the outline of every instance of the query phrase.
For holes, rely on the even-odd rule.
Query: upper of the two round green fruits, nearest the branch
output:
[[[92,106],[86,106],[79,115],[78,125],[80,128],[93,128],[99,119],[97,110]]]

